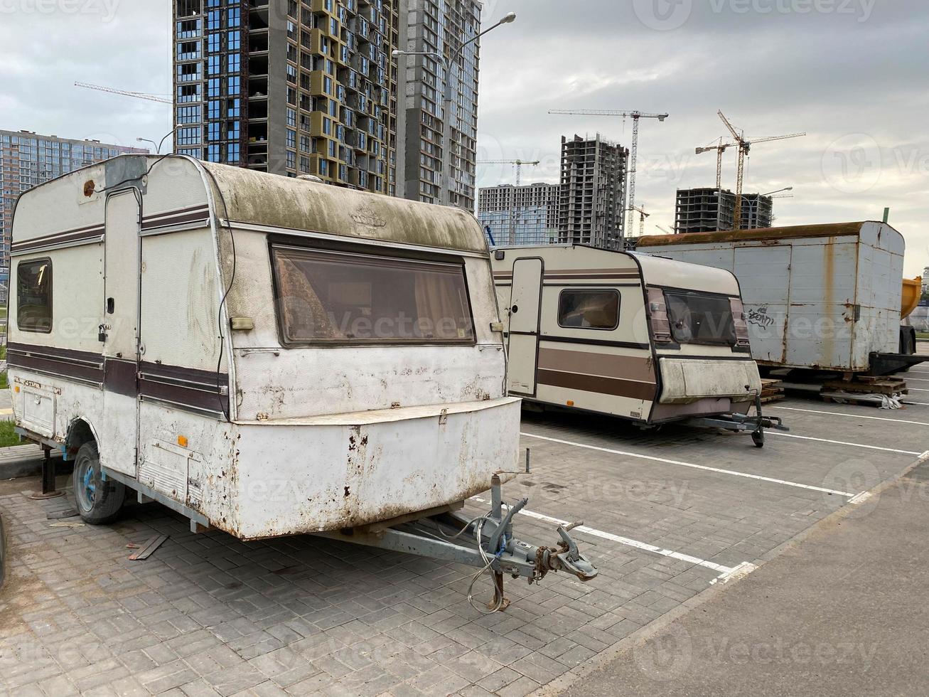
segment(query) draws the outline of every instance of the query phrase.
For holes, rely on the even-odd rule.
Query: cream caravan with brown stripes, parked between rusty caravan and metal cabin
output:
[[[752,431],[761,415],[739,283],[728,271],[582,245],[498,248],[508,388],[526,401],[653,426]],[[752,405],[755,417],[748,417]]]

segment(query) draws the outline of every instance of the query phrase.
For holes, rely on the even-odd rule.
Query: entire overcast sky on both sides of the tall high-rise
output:
[[[722,109],[749,136],[805,131],[752,149],[746,191],[792,186],[778,224],[880,219],[907,238],[906,272],[929,265],[929,3],[925,0],[489,0],[481,59],[482,159],[542,160],[556,182],[563,135],[628,147],[631,123],[550,109],[669,112],[643,121],[637,200],[674,225],[678,187],[713,186]],[[0,128],[135,144],[171,129],[170,108],[73,86],[167,96],[165,0],[0,0]],[[735,151],[723,185],[735,187]],[[513,182],[485,165],[478,182]],[[637,223],[636,223],[637,225]]]

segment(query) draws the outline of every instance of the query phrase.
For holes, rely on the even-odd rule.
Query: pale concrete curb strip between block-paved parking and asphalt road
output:
[[[870,494],[869,497],[880,495],[887,489],[890,489],[896,485],[896,483],[900,480],[903,480],[903,478],[906,477],[916,467],[919,467],[927,461],[929,461],[929,451],[922,453],[907,467],[904,467],[901,471],[891,475],[887,479],[871,487],[867,492],[863,493]],[[858,495],[860,496],[861,494]],[[867,499],[859,499],[859,501],[865,500]],[[832,511],[830,515],[823,519],[817,520],[815,523],[813,523],[813,525],[809,526],[800,533],[795,534],[790,540],[787,540],[781,545],[776,546],[774,549],[771,549],[758,559],[755,559],[752,563],[755,564],[757,568],[753,570],[752,573],[756,572],[767,562],[772,561],[773,559],[777,559],[786,550],[800,545],[806,539],[818,533],[818,531],[822,528],[831,525],[831,523],[836,520],[846,518],[856,509],[856,506],[857,504],[846,503],[844,506],[841,506],[837,510]],[[742,578],[747,578],[749,575],[752,574],[746,574],[745,576],[734,579],[733,583],[738,582]],[[589,676],[590,674],[605,668],[608,664],[618,659],[624,652],[632,649],[635,644],[646,641],[648,638],[651,638],[652,636],[661,632],[661,630],[663,630],[666,626],[671,625],[675,620],[683,617],[685,614],[687,614],[687,612],[690,612],[708,600],[715,598],[719,593],[724,592],[726,587],[727,584],[715,584],[711,585],[706,590],[700,591],[700,593],[698,593],[696,596],[685,600],[683,603],[674,608],[674,610],[665,612],[654,622],[636,629],[635,632],[630,634],[628,637],[624,637],[612,646],[604,649],[586,663],[578,665],[577,667],[571,669],[568,673],[556,677],[551,682],[540,685],[535,691],[531,693],[532,697],[555,697],[555,695],[561,694],[562,692],[572,687],[583,677]]]

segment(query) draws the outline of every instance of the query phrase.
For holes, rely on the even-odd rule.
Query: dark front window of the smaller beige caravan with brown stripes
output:
[[[665,291],[671,334],[678,344],[735,346],[736,326],[726,296]]]

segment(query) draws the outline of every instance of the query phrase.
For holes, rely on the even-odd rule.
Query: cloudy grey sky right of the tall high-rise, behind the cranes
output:
[[[687,17],[652,29],[636,16],[643,7],[687,7]],[[639,138],[636,198],[656,232],[674,225],[677,188],[715,183],[713,153],[694,148],[726,135],[722,109],[752,136],[807,133],[758,144],[746,167],[746,191],[794,187],[775,201],[779,224],[880,219],[889,206],[908,241],[906,272],[929,264],[929,3],[510,0],[493,9],[518,19],[481,46],[481,157],[542,159],[524,180],[556,182],[561,136],[599,132],[628,147],[631,128],[550,109],[669,112],[663,124],[643,122]],[[876,144],[864,159],[857,137]],[[727,151],[724,186],[735,187],[735,170]],[[513,181],[510,167],[478,170],[479,186],[502,181]]]

